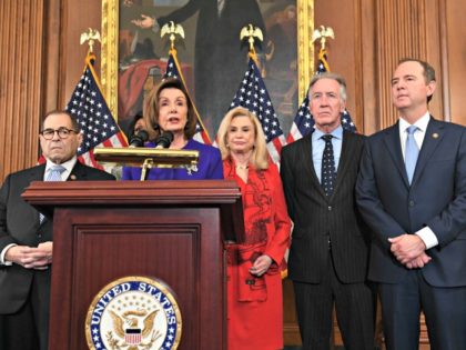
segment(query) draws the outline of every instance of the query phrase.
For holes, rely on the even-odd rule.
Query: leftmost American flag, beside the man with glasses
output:
[[[93,149],[100,147],[126,147],[128,140],[114,120],[102,94],[93,62],[95,56],[85,58],[84,72],[67,106],[81,127],[83,141],[78,149],[79,160],[93,168],[102,169],[93,157]]]

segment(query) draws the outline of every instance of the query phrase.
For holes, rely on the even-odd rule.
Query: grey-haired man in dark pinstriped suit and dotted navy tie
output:
[[[288,259],[303,349],[330,349],[333,307],[345,349],[374,349],[374,296],[366,283],[369,231],[356,208],[364,137],[344,131],[346,84],[311,80],[314,131],[282,151],[281,173],[294,222]]]

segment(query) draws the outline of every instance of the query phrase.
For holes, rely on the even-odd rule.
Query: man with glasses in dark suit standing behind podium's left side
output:
[[[40,146],[45,164],[11,173],[0,192],[0,349],[48,348],[52,222],[24,202],[31,181],[114,180],[77,160],[79,124],[67,112],[45,116]]]

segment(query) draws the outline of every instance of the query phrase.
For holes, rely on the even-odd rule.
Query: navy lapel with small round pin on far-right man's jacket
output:
[[[413,176],[413,183],[421,177],[424,168],[427,164],[427,161],[430,159],[435,149],[440,144],[442,140],[445,137],[444,126],[437,122],[432,116],[430,121],[427,124],[426,134],[424,136],[423,146],[419,151],[419,157],[417,158],[416,169]]]

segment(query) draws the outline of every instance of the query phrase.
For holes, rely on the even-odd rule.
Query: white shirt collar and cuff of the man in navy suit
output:
[[[417,127],[417,130],[414,132],[414,140],[417,143],[417,147],[421,148],[423,147],[423,142],[424,142],[424,138],[426,136],[426,131],[427,131],[427,126],[428,122],[430,120],[430,114],[427,111],[423,117],[421,117],[413,126]],[[403,159],[405,159],[405,149],[406,149],[406,139],[407,139],[407,128],[409,128],[412,124],[408,123],[405,119],[403,119],[403,117],[399,118],[399,140],[402,142],[402,153],[403,153]],[[417,234],[424,242],[424,244],[426,244],[426,250],[430,249],[433,247],[438,246],[438,239],[435,236],[434,231],[429,228],[429,227],[425,227],[423,229],[421,229],[419,231],[415,232],[415,234]]]

